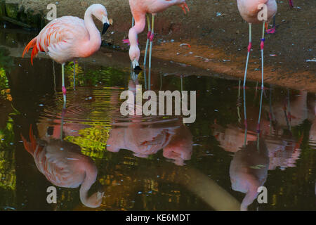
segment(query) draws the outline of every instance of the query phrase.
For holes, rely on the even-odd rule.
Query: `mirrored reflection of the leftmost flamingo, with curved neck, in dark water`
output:
[[[88,191],[96,182],[98,169],[91,158],[81,154],[74,143],[59,139],[35,139],[32,125],[29,127],[29,139],[21,135],[25,149],[33,156],[39,172],[55,186],[64,188],[80,187],[81,203],[87,207],[99,207],[104,193],[94,193],[88,197]]]

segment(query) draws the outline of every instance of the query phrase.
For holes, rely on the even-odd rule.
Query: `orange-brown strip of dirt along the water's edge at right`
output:
[[[213,51],[211,49],[205,51],[205,49],[207,49],[207,46],[192,44],[191,48],[185,48],[180,46],[180,42],[174,42],[154,47],[153,56],[204,68],[212,73],[244,79],[244,61],[246,60],[246,56],[226,56],[221,51]],[[265,54],[265,57],[269,56]],[[249,60],[247,80],[261,83],[261,59]],[[315,72],[312,73],[310,71],[290,72],[282,68],[276,70],[273,65],[265,64],[264,83],[277,84],[291,89],[316,93]]]

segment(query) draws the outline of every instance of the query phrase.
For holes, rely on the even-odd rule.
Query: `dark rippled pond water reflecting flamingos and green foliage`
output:
[[[55,157],[48,164],[77,169],[67,179],[96,168],[88,190],[104,193],[96,210],[238,210],[243,200],[248,210],[316,209],[315,94],[268,84],[261,92],[256,82],[244,90],[239,79],[160,61],[151,89],[197,91],[196,121],[122,117],[121,91],[148,82],[144,72],[131,76],[127,53],[106,50],[110,63],[79,61],[75,88],[68,63],[63,105],[60,65],[37,58],[32,67],[18,57],[32,34],[0,33],[1,210],[94,210],[82,203],[80,187],[52,184],[39,171],[22,143],[31,124],[46,157]],[[46,201],[49,186],[57,188],[57,204]],[[256,200],[259,186],[268,203]]]

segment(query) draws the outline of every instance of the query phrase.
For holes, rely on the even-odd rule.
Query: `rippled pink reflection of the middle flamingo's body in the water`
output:
[[[131,79],[129,90],[136,93],[136,85],[138,79]],[[141,105],[136,105],[136,109],[139,107]],[[164,157],[173,160],[176,165],[184,165],[185,160],[191,159],[192,134],[180,117],[163,119],[135,115],[129,119],[112,124],[107,150],[119,152],[120,149],[128,149],[138,158],[147,158],[163,149]]]

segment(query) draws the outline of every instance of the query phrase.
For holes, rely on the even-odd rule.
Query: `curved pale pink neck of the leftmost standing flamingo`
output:
[[[90,8],[84,14],[84,24],[86,25],[86,30],[88,30],[88,41],[85,46],[82,46],[84,49],[84,56],[91,56],[93,53],[98,51],[101,46],[101,35],[93,22],[92,11]]]

